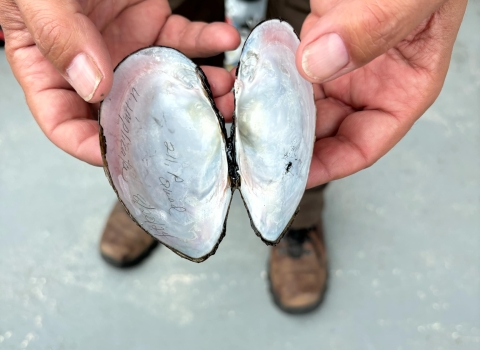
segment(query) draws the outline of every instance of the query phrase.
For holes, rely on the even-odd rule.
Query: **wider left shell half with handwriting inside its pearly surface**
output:
[[[105,169],[120,201],[146,232],[194,261],[214,253],[232,197],[212,101],[192,61],[153,47],[117,67],[100,111]]]

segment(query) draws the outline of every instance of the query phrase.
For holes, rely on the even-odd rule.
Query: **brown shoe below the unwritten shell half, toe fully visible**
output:
[[[327,285],[327,253],[321,230],[291,229],[272,248],[269,282],[273,300],[283,311],[301,314],[316,309]]]

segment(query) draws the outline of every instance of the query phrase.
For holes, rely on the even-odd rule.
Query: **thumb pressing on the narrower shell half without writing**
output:
[[[445,0],[343,0],[325,8],[311,0],[296,63],[321,83],[357,69],[405,39]]]

